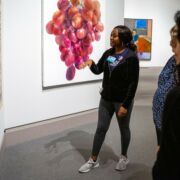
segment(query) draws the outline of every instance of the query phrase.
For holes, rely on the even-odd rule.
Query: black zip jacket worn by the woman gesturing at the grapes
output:
[[[137,55],[128,49],[121,62],[110,71],[108,56],[115,54],[113,48],[104,52],[97,64],[93,62],[91,71],[103,74],[101,96],[108,101],[123,103],[124,108],[131,104],[138,85],[139,60]]]

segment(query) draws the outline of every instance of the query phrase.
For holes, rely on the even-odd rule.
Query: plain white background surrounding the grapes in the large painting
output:
[[[42,88],[55,88],[60,86],[74,85],[100,81],[102,75],[94,75],[89,68],[76,69],[72,80],[66,79],[67,67],[60,59],[60,52],[55,36],[46,32],[46,24],[52,19],[53,13],[57,10],[57,1],[41,0],[42,5]],[[101,11],[101,22],[105,24],[105,0],[99,0]],[[97,62],[105,51],[105,30],[101,32],[101,39],[93,41],[93,52],[90,59]]]

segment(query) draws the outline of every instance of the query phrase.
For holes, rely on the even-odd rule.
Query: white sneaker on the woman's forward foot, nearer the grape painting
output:
[[[86,172],[89,172],[91,169],[97,168],[97,167],[99,167],[99,162],[98,161],[94,162],[92,160],[92,158],[90,158],[89,161],[87,161],[85,164],[83,164],[79,168],[79,172],[80,173],[86,173]]]

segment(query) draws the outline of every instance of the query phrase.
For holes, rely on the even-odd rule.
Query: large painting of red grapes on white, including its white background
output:
[[[87,70],[81,72],[80,65],[89,58],[98,59],[99,55],[102,55],[99,53],[104,50],[103,2],[43,1],[44,86],[93,80],[94,77],[89,76]],[[98,45],[101,47],[100,51],[96,48]],[[53,63],[59,65],[53,69]],[[53,77],[56,80],[53,80]]]

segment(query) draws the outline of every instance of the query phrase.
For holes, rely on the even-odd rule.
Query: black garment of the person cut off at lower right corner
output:
[[[153,180],[180,180],[180,86],[168,93],[162,118],[162,139]]]

